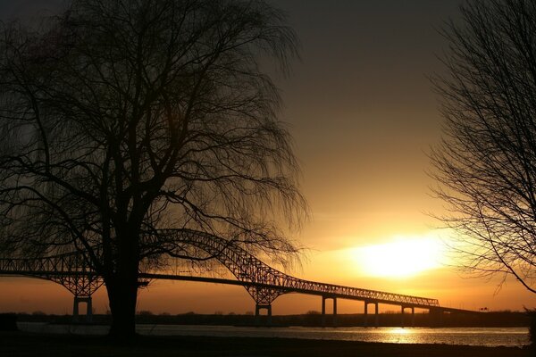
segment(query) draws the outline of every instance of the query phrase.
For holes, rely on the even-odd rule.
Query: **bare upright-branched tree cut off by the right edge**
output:
[[[460,265],[536,293],[536,3],[475,0],[448,23],[431,154]]]

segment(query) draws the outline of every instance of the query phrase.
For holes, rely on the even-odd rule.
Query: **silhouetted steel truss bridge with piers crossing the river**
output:
[[[437,299],[426,297],[393,294],[359,287],[326,284],[301,278],[295,278],[280,270],[273,269],[268,264],[247,253],[239,244],[220,237],[187,229],[168,229],[159,232],[166,241],[203,251],[214,257],[226,267],[235,279],[206,278],[189,275],[160,273],[157,271],[140,271],[141,279],[189,280],[207,283],[244,286],[247,293],[255,300],[255,316],[260,316],[261,310],[267,311],[268,322],[272,316],[272,303],[280,295],[298,293],[322,296],[322,321],[325,323],[325,303],[333,302],[333,325],[336,324],[337,299],[349,299],[364,302],[364,324],[368,305],[375,309],[375,324],[378,324],[378,304],[398,305],[401,308],[402,320],[404,311],[411,309],[415,318],[415,308],[426,309],[431,314],[442,315],[442,312],[476,312],[452,309],[440,306]],[[103,285],[103,278],[92,270],[82,253],[66,253],[38,259],[0,258],[0,275],[27,276],[44,278],[66,287],[74,295],[73,318],[79,315],[79,304],[87,303],[86,318],[91,320],[91,295]]]

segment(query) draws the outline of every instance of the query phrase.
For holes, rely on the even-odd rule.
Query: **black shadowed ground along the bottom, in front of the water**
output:
[[[0,332],[0,356],[168,357],[168,356],[397,356],[495,357],[534,356],[529,349],[456,345],[396,345],[286,338],[144,336],[128,345],[105,337],[48,336]]]

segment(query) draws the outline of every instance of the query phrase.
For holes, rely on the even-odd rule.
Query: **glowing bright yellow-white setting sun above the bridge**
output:
[[[352,249],[359,269],[367,276],[409,278],[440,268],[443,243],[438,237],[393,237],[388,243]]]

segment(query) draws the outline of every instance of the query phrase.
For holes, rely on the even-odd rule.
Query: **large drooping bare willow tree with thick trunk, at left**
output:
[[[78,251],[134,335],[138,272],[189,261],[163,228],[284,260],[306,203],[271,63],[297,39],[263,1],[72,0],[0,42],[0,248]],[[147,237],[151,237],[148,239]]]

